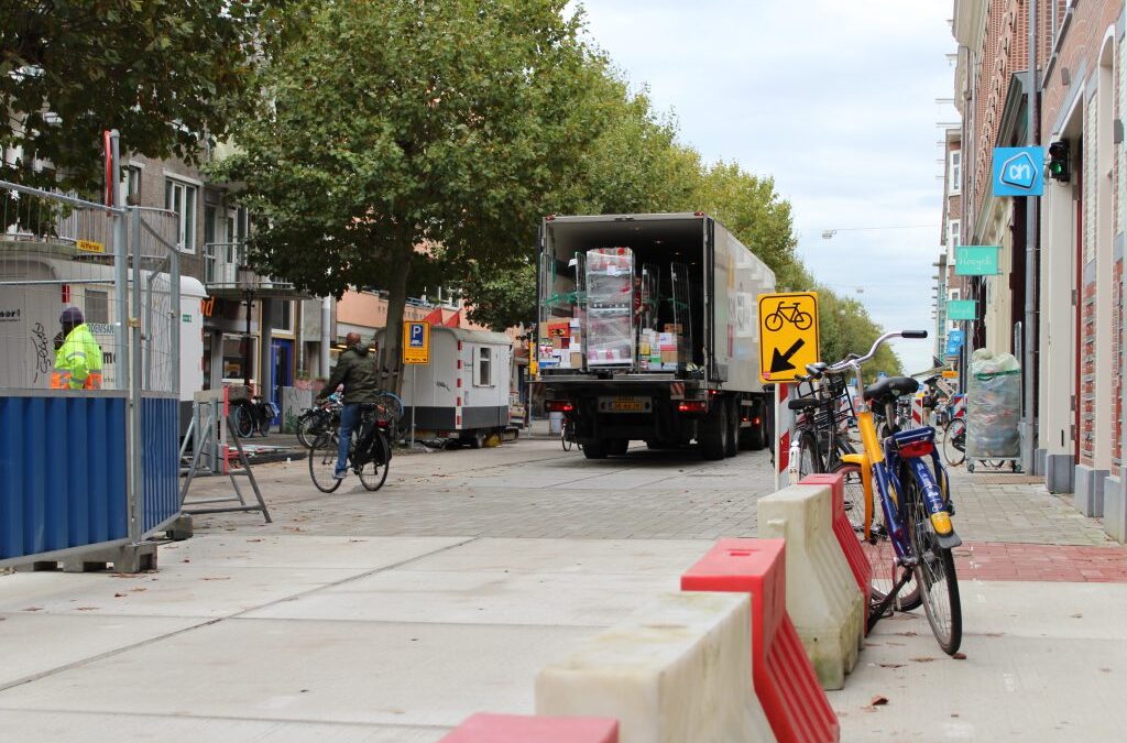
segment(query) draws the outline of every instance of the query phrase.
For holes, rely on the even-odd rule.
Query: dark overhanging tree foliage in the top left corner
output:
[[[279,30],[275,5],[5,0],[0,151],[21,156],[3,163],[3,177],[96,192],[108,129],[123,149],[195,160],[240,115],[251,44]]]

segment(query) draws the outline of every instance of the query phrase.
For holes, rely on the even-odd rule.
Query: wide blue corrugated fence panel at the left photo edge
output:
[[[0,396],[0,561],[128,536],[125,393]]]

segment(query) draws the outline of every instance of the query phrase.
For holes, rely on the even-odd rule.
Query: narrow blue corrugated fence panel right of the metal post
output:
[[[148,536],[180,513],[179,404],[175,396],[142,395],[143,531]]]

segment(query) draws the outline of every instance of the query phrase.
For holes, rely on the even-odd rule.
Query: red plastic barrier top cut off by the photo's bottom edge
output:
[[[602,717],[473,715],[438,743],[619,743],[619,720]]]

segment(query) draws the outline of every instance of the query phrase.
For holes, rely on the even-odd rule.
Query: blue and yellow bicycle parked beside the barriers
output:
[[[876,355],[881,344],[897,337],[926,338],[928,333],[886,333],[869,353],[850,354],[828,366],[826,373],[852,374],[860,387],[862,364]],[[860,524],[853,523],[873,567],[875,605],[870,607],[869,627],[893,608],[914,578],[935,639],[946,653],[953,654],[962,639],[962,610],[951,550],[962,542],[951,524],[955,508],[947,471],[935,449],[935,431],[931,426],[893,430],[881,440],[873,425],[873,407],[884,408],[888,421],[894,421],[896,400],[919,388],[920,383],[907,377],[884,379],[863,388],[858,412],[863,451],[843,455],[842,469],[854,483],[860,480],[863,494],[863,519]],[[875,494],[882,520],[875,513]]]

